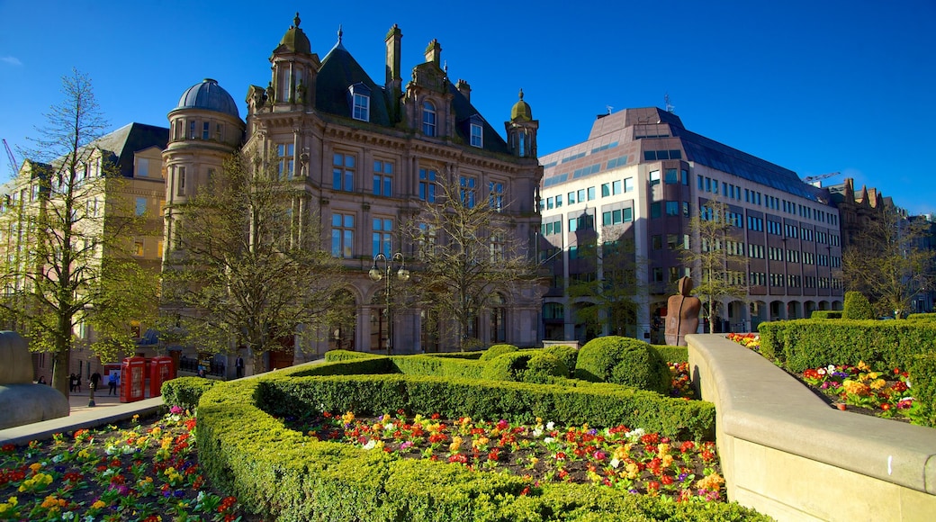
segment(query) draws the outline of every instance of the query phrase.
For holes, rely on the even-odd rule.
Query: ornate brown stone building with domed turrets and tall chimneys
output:
[[[516,103],[505,103],[510,118],[504,138],[472,105],[468,82],[450,80],[438,41],[429,43],[425,61],[413,67],[412,80],[404,84],[399,27],[391,27],[383,41],[387,67],[382,83],[358,65],[342,39],[339,31],[334,47],[319,58],[297,14],[273,46],[270,80],[248,87],[244,120],[230,94],[213,80],[185,91],[169,112],[172,131],[164,153],[168,208],[195,194],[212,169],[221,168],[224,157],[242,146],[301,188],[304,196],[294,205],[297,223],[317,223],[323,247],[346,268],[355,326],[331,328],[328,339],[297,336],[302,345],[295,358],[276,355],[273,367],[329,348],[383,351],[390,331],[395,353],[446,346],[417,309],[395,311],[391,330],[382,313],[384,283],[368,277],[376,254],[401,252],[412,260],[402,225],[420,205],[434,200],[440,177],[461,182],[478,202],[497,201],[515,235],[509,240],[531,256],[539,228],[538,122],[522,93]],[[168,210],[170,247],[177,217]],[[484,343],[537,343],[540,286],[516,284],[494,291],[498,304],[477,313],[469,335]]]

